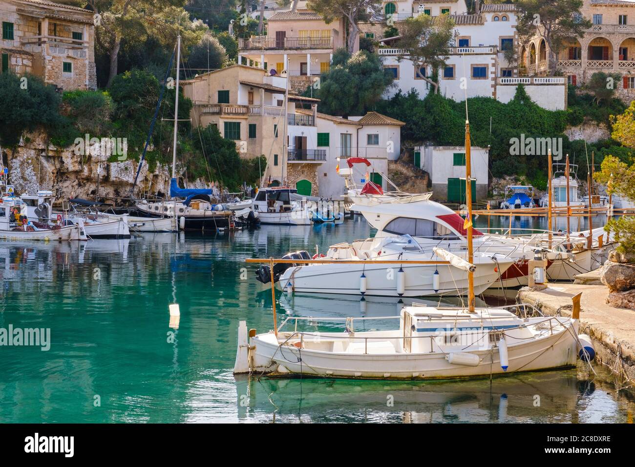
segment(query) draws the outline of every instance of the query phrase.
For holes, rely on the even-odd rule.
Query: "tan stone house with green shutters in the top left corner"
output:
[[[0,0],[2,71],[65,90],[97,89],[93,12],[48,0]]]

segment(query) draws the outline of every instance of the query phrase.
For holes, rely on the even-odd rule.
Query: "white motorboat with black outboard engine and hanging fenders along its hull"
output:
[[[461,256],[458,256],[461,255]],[[500,279],[513,263],[504,255],[477,253],[472,264],[465,262],[465,251],[453,255],[434,248],[424,251],[408,236],[387,237],[333,245],[324,260],[339,260],[340,264],[307,264],[283,270],[274,267],[274,280],[288,292],[380,295],[385,297],[428,297],[464,295],[467,292],[466,271],[474,273],[474,292],[481,294]],[[304,255],[305,259],[308,253]],[[451,260],[450,264],[413,264],[411,261]],[[352,260],[352,261],[351,261]],[[378,261],[404,261],[386,265]],[[286,266],[286,265],[285,265]],[[257,278],[269,282],[269,266],[262,266]]]

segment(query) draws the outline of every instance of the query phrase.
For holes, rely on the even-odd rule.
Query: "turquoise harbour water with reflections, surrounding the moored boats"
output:
[[[0,328],[50,328],[51,341],[48,351],[0,346],[0,422],[632,421],[632,393],[614,392],[608,372],[588,376],[581,365],[491,382],[234,378],[238,320],[272,328],[271,289],[243,260],[368,234],[356,217],[81,247],[0,243]],[[177,329],[171,302],[180,306]],[[398,304],[293,296],[280,297],[279,313],[396,315]]]

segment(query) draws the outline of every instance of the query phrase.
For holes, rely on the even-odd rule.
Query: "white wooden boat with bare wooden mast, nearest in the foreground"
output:
[[[469,123],[465,123],[467,262],[472,255],[472,206]],[[290,260],[293,261],[293,260]],[[271,260],[271,265],[273,260]],[[354,328],[344,318],[344,332],[304,332],[288,318],[274,330],[257,334],[239,323],[234,373],[309,374],[371,379],[436,379],[486,376],[517,371],[572,367],[578,355],[592,358],[590,344],[578,339],[579,308],[572,318],[533,316],[526,305],[509,308],[474,306],[473,269],[467,271],[467,306],[444,309],[404,307],[399,326],[387,330]],[[273,291],[272,291],[273,292]],[[579,304],[579,302],[578,302]],[[394,319],[371,318],[376,320]],[[311,319],[312,323],[318,320]],[[342,318],[325,318],[330,321]],[[362,318],[364,319],[364,318]],[[284,330],[289,321],[295,328]],[[586,342],[586,341],[584,341]]]

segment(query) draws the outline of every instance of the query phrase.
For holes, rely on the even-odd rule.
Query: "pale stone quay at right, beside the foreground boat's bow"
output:
[[[518,297],[544,315],[571,316],[571,297],[580,292],[580,334],[591,336],[600,363],[635,382],[635,311],[608,306],[605,285],[551,283],[544,290],[523,287]]]

